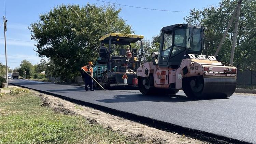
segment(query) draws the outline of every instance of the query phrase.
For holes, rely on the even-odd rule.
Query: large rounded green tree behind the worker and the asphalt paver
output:
[[[96,61],[99,39],[110,32],[133,33],[114,6],[59,5],[29,28],[38,42],[37,53],[51,60],[53,75],[73,78],[90,61]]]

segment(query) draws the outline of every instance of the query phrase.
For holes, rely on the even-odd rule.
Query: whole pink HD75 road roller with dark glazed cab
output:
[[[153,61],[137,70],[141,93],[173,95],[183,89],[190,98],[231,96],[237,68],[201,55],[206,29],[185,24],[163,27],[159,52],[152,53]]]

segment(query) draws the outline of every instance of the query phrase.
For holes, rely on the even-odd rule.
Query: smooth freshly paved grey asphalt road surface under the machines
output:
[[[97,90],[27,80],[10,83],[47,91],[171,124],[256,143],[256,96],[234,94],[228,99],[190,100],[183,92],[143,96],[138,90]]]

